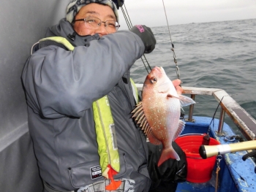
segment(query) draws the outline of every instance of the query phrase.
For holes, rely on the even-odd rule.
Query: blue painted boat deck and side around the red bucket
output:
[[[183,134],[204,134],[208,130],[208,126],[211,123],[211,118],[196,117],[194,116],[195,123],[187,122]],[[217,139],[221,144],[230,144],[233,142],[225,142],[225,137],[235,135],[226,123],[223,125],[223,133],[225,137],[217,136],[217,130],[219,126],[219,120],[215,119],[211,123],[211,137]],[[237,142],[237,141],[235,141]],[[226,153],[222,155],[222,161],[220,161],[219,171],[219,188],[218,192],[255,192],[256,191],[256,174],[255,174],[255,162],[252,158],[247,158],[246,161],[242,160],[246,151],[239,151],[236,153]],[[178,183],[177,192],[211,192],[215,191],[216,183],[216,165],[212,172],[211,180],[206,183]]]

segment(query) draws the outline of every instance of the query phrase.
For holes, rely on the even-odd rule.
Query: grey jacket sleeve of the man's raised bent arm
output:
[[[143,42],[130,31],[109,34],[73,51],[43,47],[23,69],[28,105],[44,118],[79,118],[112,90],[143,52]]]

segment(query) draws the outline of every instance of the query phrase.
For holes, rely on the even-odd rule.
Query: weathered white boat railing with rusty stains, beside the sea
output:
[[[143,84],[136,84],[138,91],[142,91]],[[219,127],[217,134],[222,135],[222,128],[225,118],[225,113],[236,124],[238,129],[247,140],[255,140],[256,134],[256,120],[249,115],[244,108],[242,108],[226,91],[219,88],[195,88],[182,87],[183,94],[190,94],[191,98],[195,100],[196,95],[214,96],[220,102],[221,111],[219,115]],[[189,115],[187,121],[193,122],[194,104],[189,106]]]

